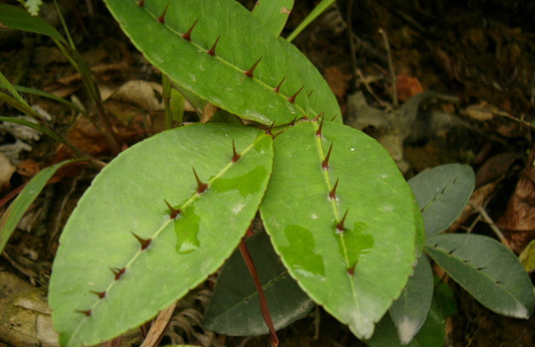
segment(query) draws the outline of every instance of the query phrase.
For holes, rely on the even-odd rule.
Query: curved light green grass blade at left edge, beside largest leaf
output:
[[[1,120],[1,119],[0,119]],[[39,196],[39,193],[45,187],[46,182],[50,180],[56,171],[64,165],[74,162],[76,160],[65,160],[58,164],[52,165],[39,171],[22,189],[19,196],[10,204],[6,212],[0,217],[0,253],[8,243],[11,234],[17,228],[25,211],[30,207],[30,204]]]

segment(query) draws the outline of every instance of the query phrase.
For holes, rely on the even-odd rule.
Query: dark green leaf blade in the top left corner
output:
[[[12,30],[23,30],[52,37],[65,43],[63,36],[41,17],[32,17],[23,8],[0,3],[0,27],[8,27]]]

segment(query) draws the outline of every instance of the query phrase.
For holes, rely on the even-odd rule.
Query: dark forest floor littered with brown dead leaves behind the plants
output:
[[[101,1],[78,1],[76,6],[60,2],[107,111],[117,117],[113,126],[125,145],[147,137],[147,127],[152,132],[163,129],[161,102],[152,92],[161,83],[158,70],[129,43]],[[242,2],[249,7],[253,3]],[[283,36],[314,5],[296,2]],[[457,229],[495,237],[491,227],[499,227],[508,245],[520,253],[535,231],[535,217],[531,217],[535,215],[534,160],[529,156],[535,127],[535,5],[521,0],[427,3],[340,0],[294,43],[331,85],[344,122],[377,138],[406,178],[445,163],[471,165],[476,172],[471,202],[495,222],[491,226],[478,222],[479,215],[472,210]],[[43,16],[59,28],[54,13],[53,4],[43,6]],[[44,37],[1,30],[0,71],[13,84],[90,107],[80,76]],[[54,101],[25,97],[50,115],[54,127],[79,148],[102,160],[111,159],[105,138],[85,118]],[[405,109],[406,117],[395,116],[408,103],[412,104]],[[0,114],[17,112],[0,103]],[[190,113],[188,120],[196,117]],[[0,171],[8,172],[0,176],[0,198],[68,156],[52,140],[17,137],[3,128],[0,151],[8,160],[0,164]],[[46,288],[61,228],[93,177],[91,171],[73,172],[47,187],[32,204],[0,259],[0,274],[18,278],[12,290]],[[519,187],[522,179],[527,183]],[[8,287],[0,284],[0,290]],[[535,346],[533,317],[496,315],[459,286],[452,283],[452,288],[458,311],[446,324],[446,346]],[[6,295],[0,291],[0,306]],[[12,322],[5,310],[0,308],[0,313],[0,324]],[[0,346],[2,341],[19,347],[39,340],[17,340],[2,333],[0,328]],[[322,311],[318,326],[313,317],[302,319],[282,330],[280,337],[284,346],[361,346],[345,326]],[[191,336],[186,339],[199,343]],[[229,338],[226,344],[266,346],[267,338]]]

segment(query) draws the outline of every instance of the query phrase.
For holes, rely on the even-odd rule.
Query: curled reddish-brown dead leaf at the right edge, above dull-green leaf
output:
[[[535,237],[535,146],[521,171],[516,188],[505,213],[496,222],[510,240],[512,249],[520,253]]]

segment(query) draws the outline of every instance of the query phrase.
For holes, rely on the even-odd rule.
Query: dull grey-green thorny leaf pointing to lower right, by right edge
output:
[[[481,235],[446,234],[428,238],[426,251],[483,306],[510,317],[532,314],[532,282],[503,244]]]

